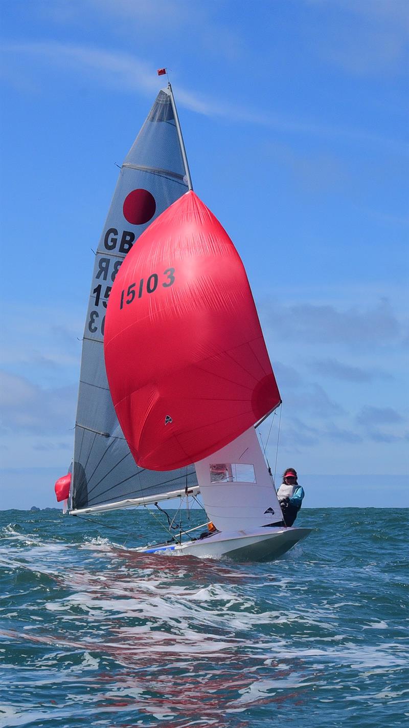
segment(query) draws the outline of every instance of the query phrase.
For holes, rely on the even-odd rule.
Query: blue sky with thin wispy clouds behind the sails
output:
[[[162,66],[195,191],[259,309],[278,472],[296,467],[306,505],[408,505],[408,3],[3,0],[1,14],[0,507],[54,505],[70,462],[92,248]]]

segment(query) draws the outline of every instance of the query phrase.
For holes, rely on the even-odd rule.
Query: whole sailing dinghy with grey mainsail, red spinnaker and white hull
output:
[[[243,264],[193,191],[169,84],[123,162],[97,248],[57,499],[77,515],[200,492],[208,530],[139,550],[277,558],[309,533],[283,526],[256,435],[280,402]]]

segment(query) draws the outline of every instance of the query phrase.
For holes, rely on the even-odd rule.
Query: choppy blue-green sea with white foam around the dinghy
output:
[[[166,524],[0,513],[1,726],[408,725],[407,509],[303,509],[270,563],[134,550]]]

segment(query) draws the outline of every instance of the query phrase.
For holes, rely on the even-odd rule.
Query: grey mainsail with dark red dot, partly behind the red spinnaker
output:
[[[71,511],[131,505],[132,499],[152,501],[197,483],[193,465],[170,472],[137,467],[113,408],[103,350],[108,297],[126,253],[188,189],[177,123],[171,89],[161,90],[123,162],[97,248],[82,346]]]

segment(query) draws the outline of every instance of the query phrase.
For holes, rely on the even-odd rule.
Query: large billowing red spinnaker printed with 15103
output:
[[[104,345],[116,414],[140,467],[197,462],[280,403],[246,271],[193,191],[123,261]]]

